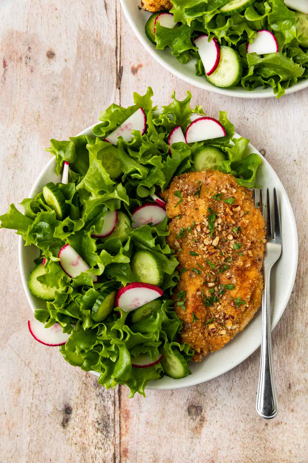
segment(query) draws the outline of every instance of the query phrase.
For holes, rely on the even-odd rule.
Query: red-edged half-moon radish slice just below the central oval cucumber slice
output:
[[[131,312],[162,295],[163,290],[150,283],[129,283],[116,293],[115,307],[120,307],[124,312]]]

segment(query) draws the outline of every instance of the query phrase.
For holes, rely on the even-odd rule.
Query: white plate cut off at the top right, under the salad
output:
[[[188,82],[195,87],[203,88],[209,92],[219,93],[221,95],[237,96],[239,98],[270,98],[276,97],[272,87],[263,89],[262,87],[255,88],[252,92],[248,92],[244,88],[219,88],[211,85],[204,75],[195,75],[195,59],[192,59],[186,64],[181,64],[171,55],[169,48],[165,50],[156,50],[154,44],[150,42],[145,34],[145,23],[151,16],[151,13],[139,10],[140,0],[120,0],[123,11],[131,28],[139,38],[145,49],[169,72],[176,75],[185,82]],[[286,94],[297,92],[308,87],[308,79],[296,83],[285,90]]]

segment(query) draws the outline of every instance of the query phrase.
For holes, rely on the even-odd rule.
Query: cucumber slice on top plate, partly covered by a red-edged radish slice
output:
[[[231,87],[240,81],[242,69],[241,57],[237,51],[223,45],[220,47],[220,61],[217,69],[211,75],[206,75],[206,79],[216,87]]]

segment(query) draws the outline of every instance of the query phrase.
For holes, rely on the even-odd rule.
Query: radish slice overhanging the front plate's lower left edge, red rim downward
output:
[[[33,338],[46,346],[60,346],[65,344],[70,334],[63,333],[60,323],[55,323],[50,328],[44,328],[44,324],[36,319],[28,320],[28,328]]]

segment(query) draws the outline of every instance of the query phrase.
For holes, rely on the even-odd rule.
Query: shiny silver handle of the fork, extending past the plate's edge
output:
[[[261,358],[256,402],[257,412],[264,419],[274,418],[278,413],[272,362],[270,273],[271,269],[263,269]]]

